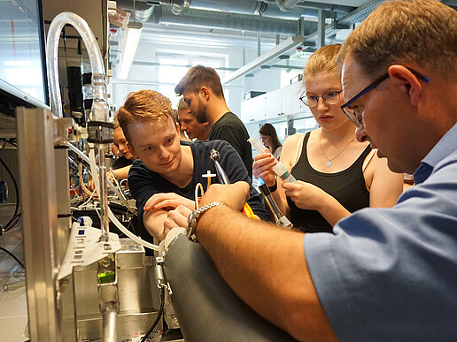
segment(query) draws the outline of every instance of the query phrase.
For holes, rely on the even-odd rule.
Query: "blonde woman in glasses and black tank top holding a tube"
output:
[[[303,232],[332,232],[343,217],[365,207],[391,207],[402,192],[403,174],[391,172],[368,141],[355,139],[335,64],[340,45],[318,49],[303,72],[305,103],[320,128],[284,141],[281,162],[298,182],[275,179],[269,153],[256,156],[254,175],[265,179],[275,201]],[[277,183],[276,183],[277,182]]]

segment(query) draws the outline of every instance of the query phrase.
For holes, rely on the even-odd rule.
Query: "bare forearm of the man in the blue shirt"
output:
[[[213,193],[202,205],[212,200],[225,202]],[[196,236],[225,281],[259,315],[300,340],[337,340],[307,268],[303,233],[217,206],[200,217]]]

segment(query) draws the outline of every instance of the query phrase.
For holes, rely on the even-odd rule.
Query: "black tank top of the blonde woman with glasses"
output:
[[[324,173],[310,165],[306,152],[309,132],[303,140],[303,148],[298,162],[290,173],[298,180],[319,186],[332,195],[349,212],[369,207],[369,192],[365,185],[362,165],[371,148],[365,148],[357,160],[346,170],[335,173]],[[332,226],[321,216],[319,211],[299,209],[290,197],[287,197],[291,222],[294,228],[302,232],[332,232]]]

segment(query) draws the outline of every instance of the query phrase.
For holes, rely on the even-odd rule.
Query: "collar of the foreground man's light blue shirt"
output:
[[[428,179],[433,168],[439,162],[445,159],[446,156],[455,152],[457,146],[457,124],[453,125],[445,135],[438,141],[438,143],[430,150],[429,154],[422,159],[419,168],[414,172],[415,184],[422,183]]]

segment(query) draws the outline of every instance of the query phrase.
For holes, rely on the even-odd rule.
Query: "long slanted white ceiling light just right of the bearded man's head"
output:
[[[260,65],[265,65],[267,62],[275,59],[276,57],[283,55],[284,52],[296,47],[298,44],[305,42],[305,37],[301,35],[292,35],[287,38],[285,41],[280,42],[275,46],[275,48],[268,50],[266,53],[255,58],[252,62],[249,62],[247,65],[242,66],[236,72],[232,72],[222,80],[223,84],[228,84],[231,81],[239,79],[244,76],[246,73],[252,72],[252,70],[257,69]]]

